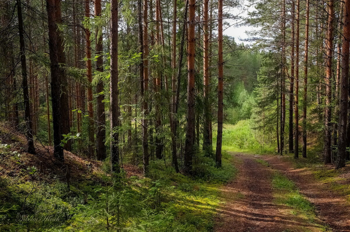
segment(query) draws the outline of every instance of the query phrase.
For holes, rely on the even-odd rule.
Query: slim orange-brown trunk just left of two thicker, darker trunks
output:
[[[85,2],[85,17],[90,18],[90,0]],[[87,112],[89,114],[89,156],[93,157],[93,146],[95,143],[94,135],[94,119],[93,119],[93,106],[92,106],[92,67],[91,67],[91,32],[88,28],[85,28],[85,52],[86,52],[86,77],[89,84],[87,85]]]

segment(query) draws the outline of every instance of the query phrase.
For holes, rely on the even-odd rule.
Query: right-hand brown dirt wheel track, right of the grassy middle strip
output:
[[[333,231],[350,231],[350,206],[344,197],[331,192],[327,185],[315,180],[311,171],[295,169],[293,163],[281,159],[281,156],[261,156],[274,169],[280,170],[294,181],[300,192],[307,196],[317,209],[317,215],[327,223]]]

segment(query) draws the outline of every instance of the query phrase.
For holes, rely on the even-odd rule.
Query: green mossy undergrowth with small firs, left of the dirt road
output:
[[[104,175],[70,189],[58,180],[37,181],[35,169],[2,175],[0,231],[211,231],[219,189],[236,169],[225,152],[222,168],[208,157],[196,159],[194,176],[159,160],[150,163],[147,178]]]

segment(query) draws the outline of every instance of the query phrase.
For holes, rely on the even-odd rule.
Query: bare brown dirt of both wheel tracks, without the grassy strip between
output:
[[[233,154],[233,153],[232,153]],[[311,173],[294,169],[293,164],[278,156],[258,156],[234,153],[237,178],[223,187],[225,204],[216,217],[218,232],[318,232],[327,223],[331,231],[350,231],[350,209],[345,200],[334,197],[321,186],[316,186]],[[257,162],[262,159],[270,167]],[[310,222],[307,218],[291,213],[292,209],[275,203],[271,179],[275,170],[280,170],[293,180],[300,192],[314,203],[322,222]],[[313,179],[312,179],[313,178]],[[311,191],[312,188],[316,190]],[[335,209],[332,209],[335,208]],[[329,214],[326,212],[329,211]],[[339,213],[336,211],[344,210]],[[332,215],[330,215],[332,214]]]

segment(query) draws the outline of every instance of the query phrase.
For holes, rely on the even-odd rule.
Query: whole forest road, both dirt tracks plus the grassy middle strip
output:
[[[231,154],[238,176],[222,190],[215,231],[350,231],[349,203],[309,169],[281,156]]]

